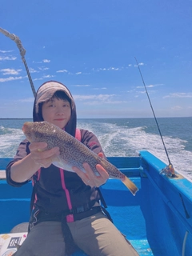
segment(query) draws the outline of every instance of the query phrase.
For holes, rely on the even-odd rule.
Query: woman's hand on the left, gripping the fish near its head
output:
[[[46,146],[46,142],[30,143],[30,158],[39,167],[47,168],[52,162],[57,160],[57,155],[59,154],[58,146],[52,148],[51,150],[45,150]]]

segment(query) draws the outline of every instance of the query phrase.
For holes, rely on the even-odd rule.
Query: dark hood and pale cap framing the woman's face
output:
[[[75,136],[75,130],[77,126],[77,113],[76,113],[76,106],[74,103],[74,98],[70,94],[70,90],[66,86],[64,86],[61,82],[57,81],[48,81],[44,82],[42,86],[38,88],[36,97],[34,99],[34,110],[33,110],[33,118],[34,122],[42,122],[42,119],[38,116],[38,107],[39,103],[46,102],[54,93],[58,90],[62,90],[65,92],[66,96],[70,98],[70,106],[71,106],[71,116],[70,121],[67,123],[65,130],[67,133]]]

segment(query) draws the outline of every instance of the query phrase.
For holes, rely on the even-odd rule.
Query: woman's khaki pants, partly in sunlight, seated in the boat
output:
[[[89,256],[138,256],[102,213],[69,222],[74,242]],[[86,255],[84,254],[84,255]],[[17,256],[64,256],[61,222],[41,222],[30,231]]]

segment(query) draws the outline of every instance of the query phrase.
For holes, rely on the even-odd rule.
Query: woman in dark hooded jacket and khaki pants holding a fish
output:
[[[34,100],[33,116],[39,126],[46,121],[57,128],[50,132],[43,126],[43,134],[39,136],[35,127],[28,130],[25,124],[23,131],[26,139],[21,142],[14,160],[6,168],[10,185],[22,186],[31,179],[34,185],[29,234],[16,255],[70,255],[76,246],[90,256],[138,255],[103,213],[98,187],[109,178],[102,166],[102,158],[106,157],[93,133],[76,129],[74,98],[66,86],[54,81],[42,84]],[[53,145],[59,145],[62,141],[62,134],[58,142],[51,136],[57,133],[58,128],[97,154],[101,164],[98,163],[96,169],[92,170],[90,164],[83,162],[84,171],[78,165],[69,166],[62,154],[65,152],[66,156],[71,148],[73,150],[70,139],[63,149],[62,146],[48,146],[52,141]],[[30,140],[38,137],[42,140]],[[63,151],[64,147],[66,151]],[[78,158],[76,151],[74,158]]]

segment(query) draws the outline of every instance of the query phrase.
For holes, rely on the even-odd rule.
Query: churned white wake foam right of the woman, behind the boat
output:
[[[162,162],[169,163],[160,135],[146,133],[146,126],[128,128],[98,122],[99,129],[95,129],[95,123],[91,126],[85,122],[83,127],[97,135],[106,156],[134,156],[140,150],[148,150]],[[163,140],[174,169],[192,181],[192,152],[185,150],[186,141],[166,136]]]

